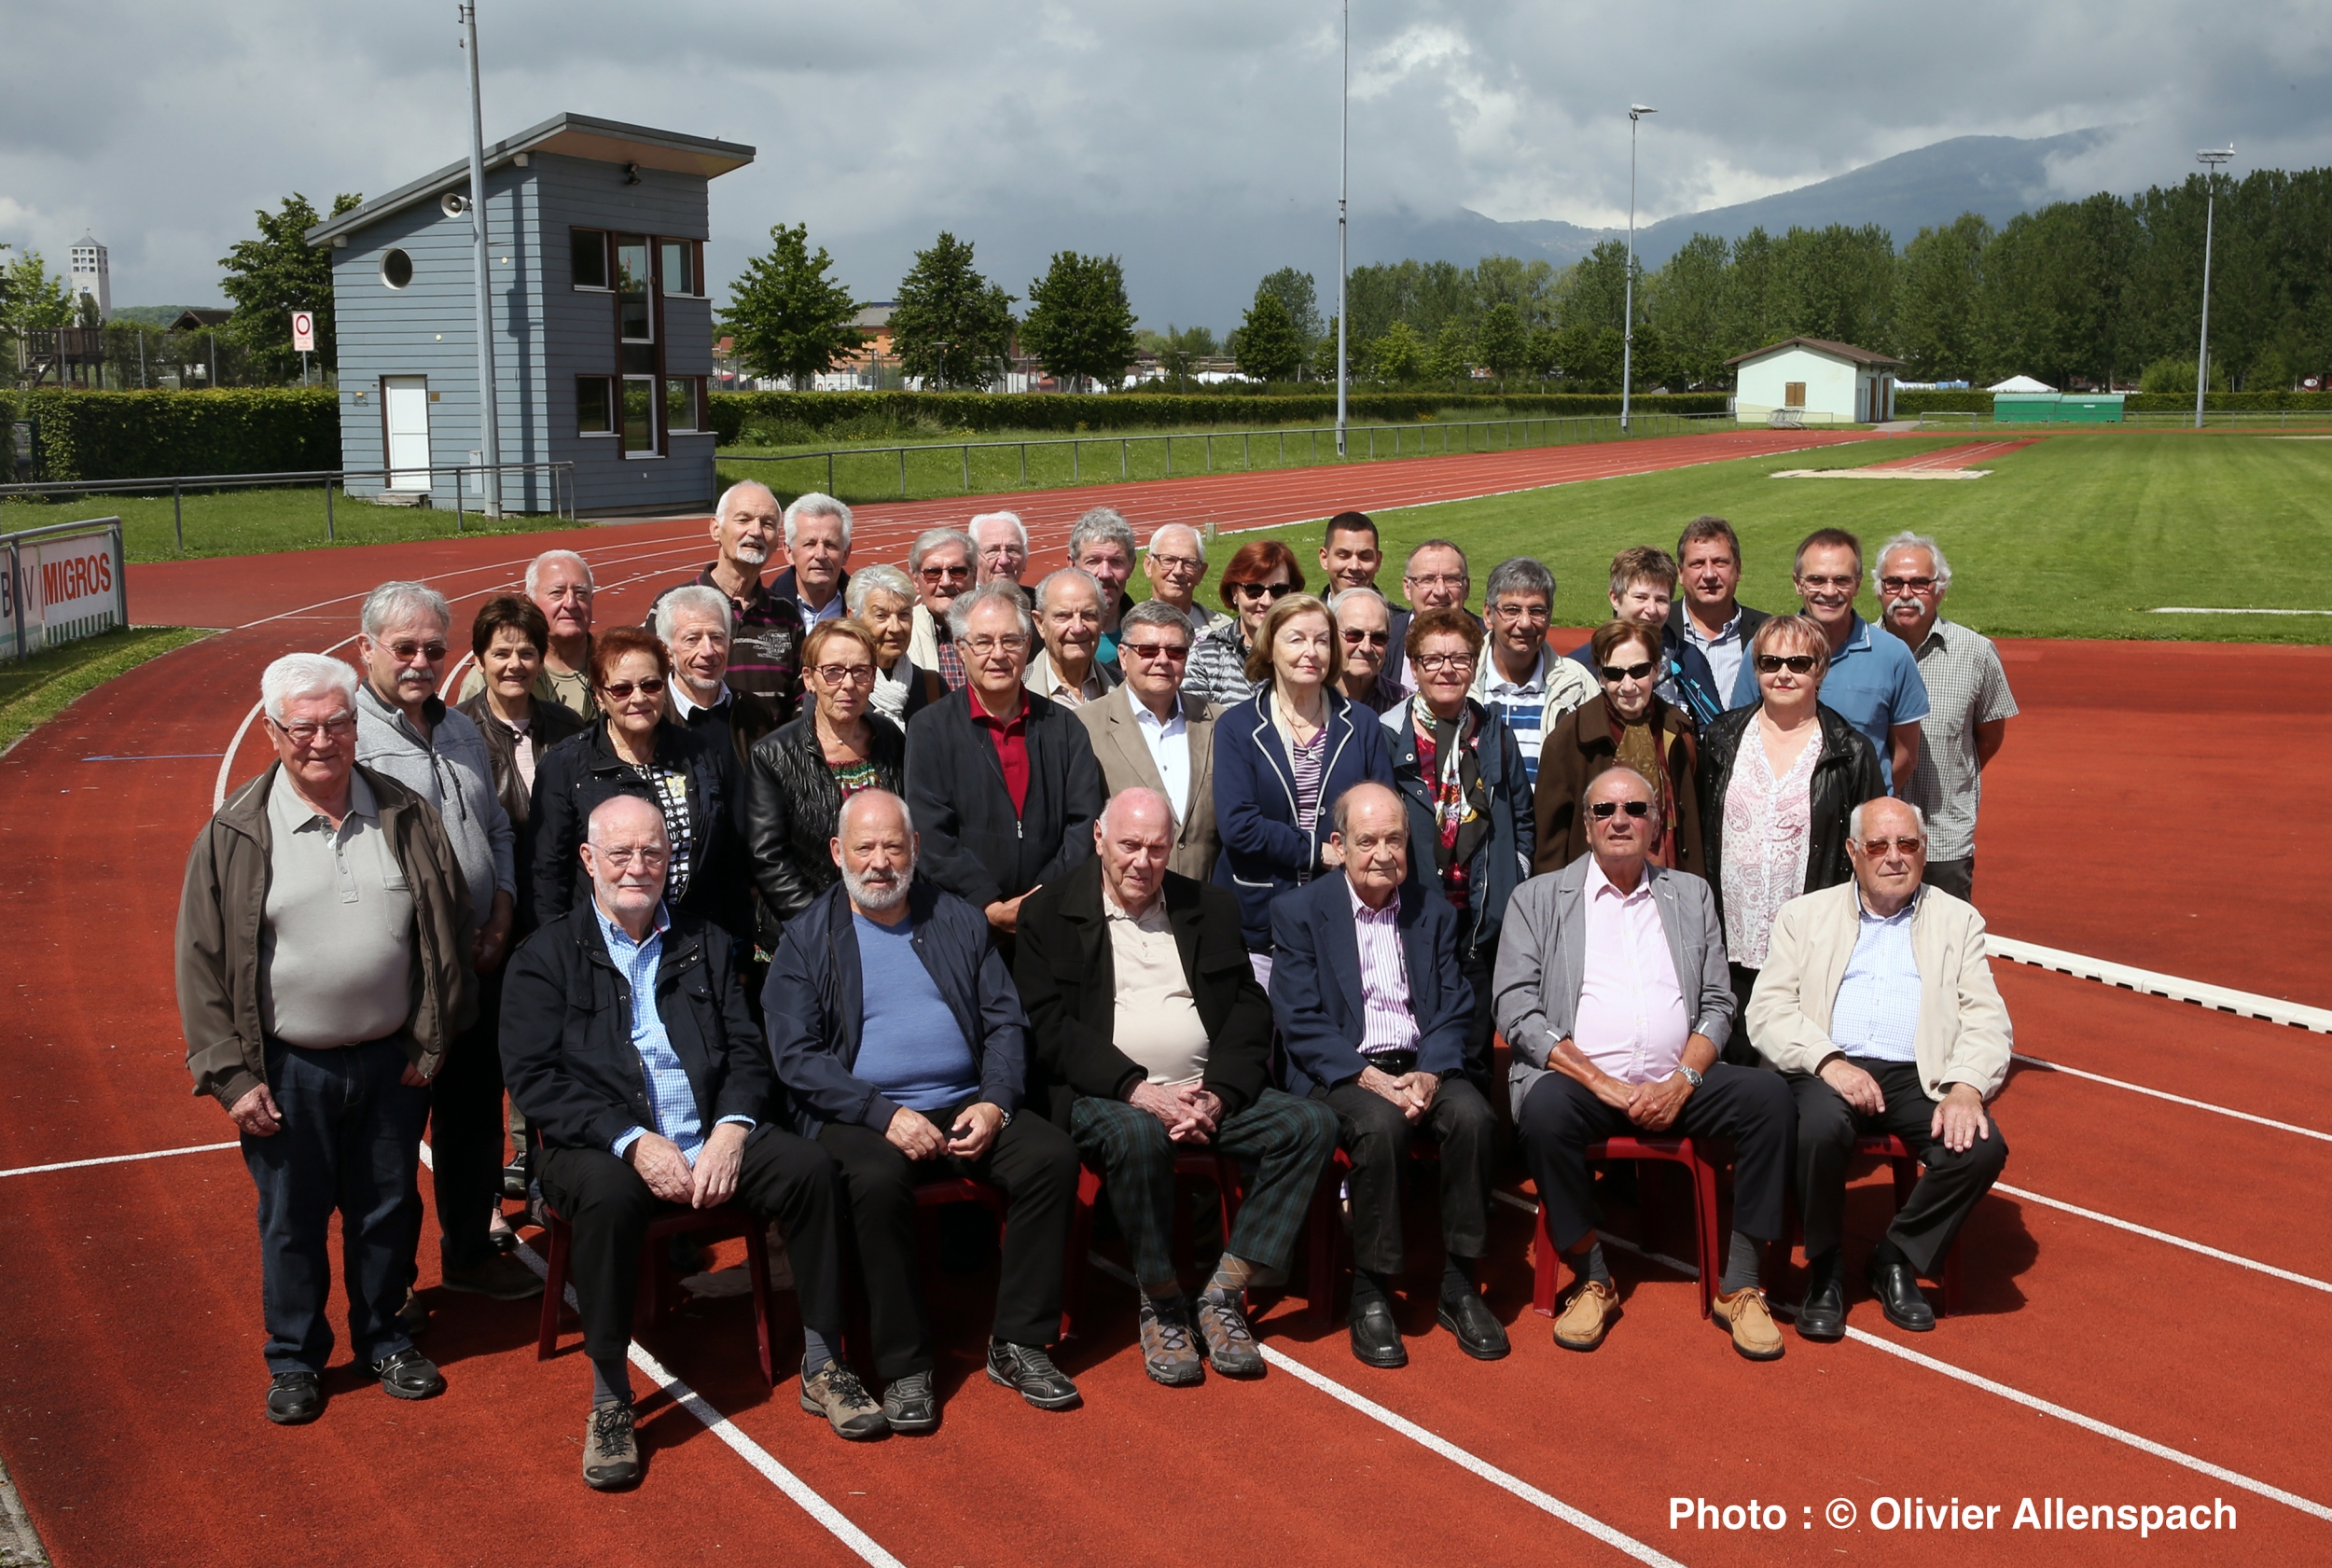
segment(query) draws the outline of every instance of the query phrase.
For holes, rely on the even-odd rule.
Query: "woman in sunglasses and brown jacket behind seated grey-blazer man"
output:
[[[1588,639],[1588,658],[1602,679],[1602,695],[1567,712],[1539,747],[1532,870],[1562,870],[1588,852],[1581,810],[1588,784],[1607,768],[1632,768],[1651,786],[1646,814],[1660,828],[1653,863],[1698,875],[1700,796],[1693,775],[1700,749],[1691,716],[1653,691],[1667,670],[1660,628],[1607,621]]]

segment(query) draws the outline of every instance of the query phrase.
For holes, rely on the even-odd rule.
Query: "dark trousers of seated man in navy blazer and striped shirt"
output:
[[[1409,1141],[1427,1134],[1441,1141],[1441,1246],[1455,1258],[1490,1251],[1490,1157],[1497,1113],[1464,1078],[1444,1078],[1434,1104],[1416,1127],[1383,1094],[1360,1080],[1313,1090],[1336,1113],[1343,1153],[1353,1160],[1353,1262],[1369,1274],[1399,1274],[1402,1176]]]

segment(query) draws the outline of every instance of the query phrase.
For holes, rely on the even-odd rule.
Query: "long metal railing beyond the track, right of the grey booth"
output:
[[[1362,460],[1355,450],[1367,446],[1367,460],[1381,457],[1423,457],[1441,453],[1483,453],[1483,450],[1513,450],[1527,446],[1572,446],[1583,441],[1621,441],[1635,436],[1674,436],[1693,429],[1714,429],[1716,425],[1730,425],[1728,413],[1637,413],[1628,420],[1628,429],[1621,429],[1616,413],[1609,415],[1527,415],[1513,420],[1434,420],[1423,425],[1348,425],[1346,427],[1346,457],[1343,462]],[[1325,436],[1325,441],[1322,441]],[[1108,476],[1108,457],[1117,457],[1117,478],[1133,478],[1136,453],[1164,453],[1164,474],[1171,478],[1175,467],[1175,453],[1185,455],[1185,471],[1196,474],[1222,474],[1222,471],[1252,471],[1257,443],[1276,443],[1271,450],[1271,462],[1264,467],[1287,469],[1287,467],[1311,467],[1320,462],[1336,462],[1336,427],[1334,425],[1299,425],[1285,427],[1276,425],[1269,429],[1213,429],[1213,432],[1166,432],[1166,434],[1143,434],[1143,436],[1056,436],[1038,441],[940,441],[921,446],[847,446],[816,453],[718,453],[716,462],[774,462],[774,464],[809,464],[812,474],[819,467],[826,469],[826,492],[842,495],[837,488],[844,476],[856,478],[849,467],[865,471],[870,460],[884,462],[884,488],[891,485],[891,464],[898,471],[898,495],[907,497],[907,460],[923,457],[921,467],[930,469],[928,455],[956,453],[961,460],[961,483],[963,495],[972,492],[972,455],[1017,455],[1019,457],[1019,488],[1028,488],[1028,453],[1045,453],[1056,448],[1068,448],[1068,483],[1084,483],[1084,457],[1098,448],[1101,467],[1096,478]],[[1297,462],[1287,460],[1290,443],[1301,443]],[[1322,446],[1327,455],[1322,457]],[[1115,453],[1112,453],[1115,448]],[[1229,462],[1229,453],[1238,453],[1238,462]],[[1224,462],[1217,462],[1217,455]],[[1189,460],[1196,457],[1192,467]],[[807,488],[807,485],[802,485]],[[870,490],[861,488],[861,495]]]

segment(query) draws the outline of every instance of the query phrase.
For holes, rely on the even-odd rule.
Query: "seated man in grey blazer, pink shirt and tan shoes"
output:
[[[1586,1146],[1611,1136],[1730,1139],[1733,1246],[1716,1281],[1716,1323],[1749,1360],[1782,1356],[1758,1286],[1763,1244],[1784,1234],[1796,1115],[1768,1071],[1726,1066],[1733,980],[1709,884],[1646,856],[1658,817],[1635,768],[1588,784],[1588,852],[1532,877],[1506,905],[1490,980],[1513,1052],[1513,1136],[1546,1204],[1546,1234],[1579,1286],[1555,1344],[1593,1351],[1618,1316],[1595,1239]]]

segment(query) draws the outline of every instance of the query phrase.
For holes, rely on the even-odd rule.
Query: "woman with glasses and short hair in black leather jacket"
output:
[[[851,579],[854,593],[865,576]],[[809,709],[753,742],[744,833],[767,919],[760,945],[770,952],[784,922],[840,877],[828,845],[842,803],[861,789],[905,793],[907,735],[868,712],[877,681],[874,635],[856,621],[821,621],[802,644]]]

